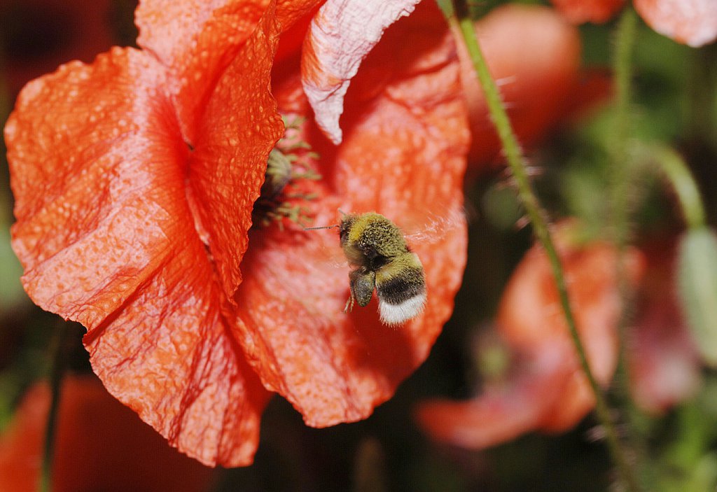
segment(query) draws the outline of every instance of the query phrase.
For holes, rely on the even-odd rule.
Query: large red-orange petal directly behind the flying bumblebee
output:
[[[391,397],[427,357],[462,278],[465,107],[452,39],[426,5],[392,26],[366,59],[366,74],[348,93],[343,144],[334,148],[315,127],[305,137],[327,183],[315,224],[337,223],[337,208],[396,221],[426,271],[424,313],[397,329],[379,322],[375,299],[344,314],[349,269],[336,230],[256,233],[242,264],[237,337],[262,382],[309,425],[366,418]],[[400,41],[415,32],[416,43]],[[377,85],[376,72],[388,78]],[[282,109],[282,95],[279,102]]]

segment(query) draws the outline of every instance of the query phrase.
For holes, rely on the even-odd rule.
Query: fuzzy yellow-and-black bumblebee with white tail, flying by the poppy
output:
[[[380,213],[346,214],[338,226],[341,248],[351,266],[348,274],[353,304],[364,307],[376,289],[381,322],[402,324],[417,317],[426,304],[426,279],[417,254],[407,246],[396,224]]]

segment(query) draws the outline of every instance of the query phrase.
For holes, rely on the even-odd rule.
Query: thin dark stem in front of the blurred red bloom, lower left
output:
[[[61,322],[57,327],[57,332],[52,338],[52,344],[49,349],[51,357],[49,362],[49,386],[52,399],[50,400],[49,411],[47,413],[47,426],[45,427],[39,492],[52,491],[52,458],[54,457],[57,411],[60,409],[60,385],[62,384],[62,374],[65,372],[65,340],[67,338],[67,332],[67,324]]]

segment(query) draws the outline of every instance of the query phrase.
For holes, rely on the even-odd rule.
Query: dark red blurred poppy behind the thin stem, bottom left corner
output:
[[[50,392],[31,387],[0,436],[0,490],[37,491]],[[62,383],[52,460],[52,490],[209,490],[212,469],[170,448],[115,400],[95,377]]]

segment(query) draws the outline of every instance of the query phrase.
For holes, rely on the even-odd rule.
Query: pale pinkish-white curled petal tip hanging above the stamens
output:
[[[333,143],[342,138],[338,119],[359,65],[388,26],[419,0],[328,0],[311,22],[304,42],[302,79],[318,127]]]

